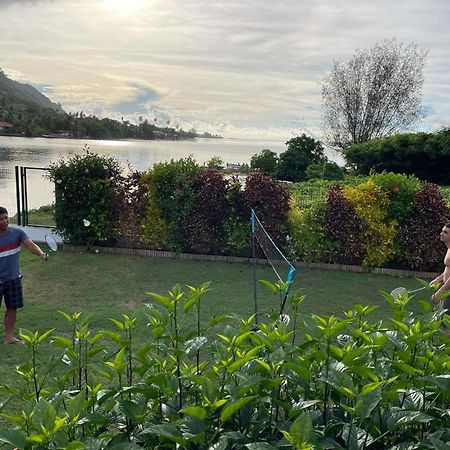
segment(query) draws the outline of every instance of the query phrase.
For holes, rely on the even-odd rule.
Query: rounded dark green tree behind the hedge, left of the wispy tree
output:
[[[311,164],[326,160],[323,146],[314,138],[302,134],[286,142],[287,150],[280,154],[276,176],[280,180],[304,181]]]

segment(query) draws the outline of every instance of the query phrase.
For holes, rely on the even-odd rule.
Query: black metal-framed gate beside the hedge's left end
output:
[[[55,191],[45,167],[15,166],[17,224],[55,226]]]

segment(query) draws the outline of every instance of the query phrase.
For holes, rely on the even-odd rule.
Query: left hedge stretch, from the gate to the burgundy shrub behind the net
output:
[[[243,185],[189,157],[122,176],[116,160],[89,151],[49,173],[57,231],[69,244],[248,256],[252,208],[277,242],[287,241],[289,194],[259,173]]]

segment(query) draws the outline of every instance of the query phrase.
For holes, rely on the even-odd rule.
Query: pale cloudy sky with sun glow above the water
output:
[[[429,52],[413,130],[435,131],[450,125],[449,24],[448,0],[0,0],[0,69],[66,112],[321,139],[333,61],[395,38]]]

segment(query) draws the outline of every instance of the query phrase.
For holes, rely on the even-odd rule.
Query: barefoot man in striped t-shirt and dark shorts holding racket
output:
[[[9,226],[8,211],[0,206],[0,304],[5,301],[5,344],[23,343],[14,337],[17,310],[23,307],[22,274],[19,252],[24,245],[31,253],[47,261],[47,254],[27,234]]]

